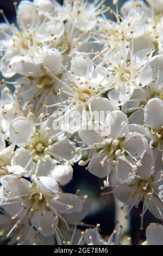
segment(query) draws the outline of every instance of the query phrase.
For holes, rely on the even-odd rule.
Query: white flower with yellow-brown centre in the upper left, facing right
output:
[[[35,58],[15,57],[11,61],[10,68],[22,76],[15,81],[18,99],[33,103],[36,114],[40,112],[40,106],[67,99],[60,80],[61,62],[62,56],[58,50],[46,48]]]

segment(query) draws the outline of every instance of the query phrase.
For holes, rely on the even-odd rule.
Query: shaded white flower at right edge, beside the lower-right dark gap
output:
[[[141,167],[136,171],[135,178],[128,184],[121,184],[116,188],[116,197],[125,205],[129,205],[129,211],[143,201],[141,217],[141,229],[143,229],[143,217],[147,210],[158,219],[162,219],[163,201],[159,197],[159,186],[162,184],[162,170],[155,170],[155,159],[152,151],[149,151],[141,160]]]

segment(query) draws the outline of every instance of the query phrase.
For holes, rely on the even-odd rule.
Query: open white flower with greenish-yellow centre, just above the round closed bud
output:
[[[25,117],[17,117],[10,124],[10,140],[20,147],[15,151],[12,165],[23,166],[27,176],[47,176],[57,163],[73,164],[80,157],[75,153],[74,142],[60,130],[54,131],[52,123],[52,117],[40,126]]]

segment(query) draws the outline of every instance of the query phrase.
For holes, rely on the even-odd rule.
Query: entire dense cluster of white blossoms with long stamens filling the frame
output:
[[[77,228],[90,201],[64,193],[74,163],[128,215],[142,201],[141,229],[147,210],[163,221],[163,4],[104,2],[14,3],[17,25],[0,11],[0,224],[12,245],[120,245],[119,224],[109,241],[99,225]],[[162,230],[151,224],[145,244]]]

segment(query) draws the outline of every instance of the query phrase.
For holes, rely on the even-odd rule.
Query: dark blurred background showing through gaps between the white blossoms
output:
[[[14,2],[14,0],[0,0],[0,9],[4,10],[4,13],[10,22],[14,22],[15,20]],[[17,2],[19,3],[21,0],[18,0]],[[59,2],[62,3],[62,1]],[[124,2],[126,2],[126,0],[119,0],[119,7],[121,7]],[[106,0],[105,4],[114,8],[112,0]],[[112,17],[113,16],[111,15],[110,19],[112,19]],[[0,22],[3,22],[2,16],[0,16]],[[103,180],[91,175],[85,168],[75,165],[73,180],[64,189],[66,192],[70,193],[75,193],[77,189],[80,189],[82,194],[87,194],[89,196],[92,201],[92,207],[90,215],[84,221],[85,223],[95,225],[100,223],[101,234],[109,236],[115,227],[115,209],[117,203],[115,203],[113,195],[105,195],[104,197],[101,197],[101,186],[103,186]],[[126,240],[126,231],[129,231],[129,236],[131,237],[133,245],[138,245],[140,241],[145,240],[145,230],[149,223],[158,222],[158,220],[154,219],[154,217],[147,212],[145,216],[144,230],[140,231],[140,213],[141,205],[139,209],[133,209],[133,211],[131,211],[129,225],[127,225],[127,222],[123,217],[124,213],[121,213],[122,216],[120,216],[123,222],[121,224],[125,227],[123,240]]]

